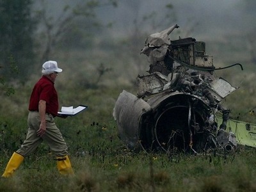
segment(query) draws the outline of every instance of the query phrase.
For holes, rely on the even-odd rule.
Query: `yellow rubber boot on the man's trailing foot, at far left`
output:
[[[12,154],[12,157],[10,158],[8,164],[6,165],[5,171],[2,175],[2,177],[11,177],[12,174],[19,168],[20,164],[24,160],[24,157],[20,154],[17,154],[14,152]]]

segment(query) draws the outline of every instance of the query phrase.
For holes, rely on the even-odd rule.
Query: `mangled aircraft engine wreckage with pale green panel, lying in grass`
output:
[[[148,56],[148,74],[137,77],[137,95],[120,93],[113,111],[120,139],[131,149],[166,152],[234,152],[237,143],[255,147],[256,126],[230,119],[230,109],[221,106],[237,89],[214,76],[227,67],[214,67],[205,42],[170,40],[176,28],[145,40],[141,53]]]

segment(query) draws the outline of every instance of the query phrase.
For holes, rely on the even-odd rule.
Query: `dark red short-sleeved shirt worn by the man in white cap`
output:
[[[38,111],[39,100],[45,100],[46,102],[45,113],[53,116],[58,115],[58,93],[54,88],[54,83],[45,76],[42,76],[33,88],[29,100],[29,111]]]

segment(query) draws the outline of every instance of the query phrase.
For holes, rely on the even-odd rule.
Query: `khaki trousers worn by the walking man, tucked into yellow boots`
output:
[[[68,154],[67,144],[63,139],[60,129],[56,127],[54,118],[52,115],[45,114],[46,120],[46,132],[40,137],[37,136],[36,131],[40,127],[40,115],[37,111],[30,111],[28,115],[28,134],[26,140],[22,143],[17,153],[26,157],[33,153],[38,145],[45,141],[51,150],[58,157],[63,157]]]

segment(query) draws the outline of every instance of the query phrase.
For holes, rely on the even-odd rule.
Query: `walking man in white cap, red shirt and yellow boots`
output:
[[[33,153],[44,140],[56,154],[57,168],[61,174],[73,174],[67,156],[67,144],[54,123],[58,116],[58,93],[54,82],[62,72],[56,61],[47,61],[42,65],[42,77],[33,88],[29,101],[28,134],[19,150],[13,153],[2,177],[10,177],[19,168],[24,157]]]

